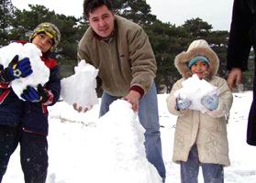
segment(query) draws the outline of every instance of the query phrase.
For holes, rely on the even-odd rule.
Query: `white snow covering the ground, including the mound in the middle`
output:
[[[246,144],[247,118],[252,92],[234,93],[233,95],[234,102],[228,122],[231,166],[224,168],[225,182],[254,183],[256,147]],[[179,165],[172,162],[176,117],[167,110],[165,102],[167,96],[167,94],[158,95],[162,154],[166,167],[166,183],[178,183],[180,182]],[[112,109],[110,109],[109,116],[98,119],[99,104],[100,99],[99,103],[87,113],[76,113],[72,110],[72,106],[65,102],[58,102],[50,107],[50,134],[48,136],[50,165],[47,183],[112,183],[122,177],[123,179],[119,182],[128,182],[126,181],[128,176],[135,179],[135,181],[128,179],[129,182],[138,182],[139,178],[145,178],[147,174],[151,174],[149,178],[155,178],[152,176],[155,171],[145,161],[145,155],[141,152],[143,148],[141,131],[143,129],[139,127],[139,124],[128,125],[131,122],[136,123],[128,106],[122,102],[116,102],[117,106],[113,109],[117,111],[116,113],[111,112]],[[125,120],[121,121],[116,115],[120,113],[126,116]],[[124,126],[119,123],[123,123]],[[115,135],[118,134],[122,137],[115,139]],[[113,142],[109,141],[111,139]],[[134,144],[129,144],[131,142]],[[120,148],[117,148],[118,144]],[[95,149],[97,151],[94,152]],[[126,156],[126,151],[129,153],[132,151],[131,156]],[[132,156],[133,159],[131,159]],[[132,163],[126,163],[126,161]],[[115,175],[113,175],[113,167],[119,168]],[[136,167],[138,171],[134,170]],[[97,181],[99,179],[106,181]],[[155,180],[157,182],[157,178]],[[2,181],[2,183],[13,182],[24,182],[19,163],[19,148],[11,156]],[[148,183],[150,180],[145,178],[140,182]],[[199,182],[203,182],[201,172]]]

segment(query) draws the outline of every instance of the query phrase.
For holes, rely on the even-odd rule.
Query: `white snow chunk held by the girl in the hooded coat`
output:
[[[201,104],[201,99],[205,95],[214,95],[217,94],[217,87],[213,86],[205,80],[200,80],[196,74],[191,78],[182,82],[183,88],[177,90],[174,93],[174,96],[181,98],[188,98],[191,100],[191,105],[189,109],[201,111],[202,113],[206,112],[206,107]]]

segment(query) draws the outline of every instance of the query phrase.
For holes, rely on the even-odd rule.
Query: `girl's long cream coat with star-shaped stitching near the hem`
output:
[[[206,52],[202,51],[207,49],[207,51],[212,51],[211,48],[199,48],[196,47],[195,50],[200,50],[200,55],[208,56]],[[178,55],[175,59],[176,67],[181,70],[187,70],[185,67],[190,59],[187,58],[187,52],[183,52],[183,59],[181,55]],[[195,51],[195,55],[199,52]],[[203,54],[202,54],[203,53]],[[191,52],[189,52],[191,56]],[[217,57],[217,56],[216,56]],[[208,57],[209,59],[209,57]],[[199,111],[185,110],[177,111],[175,106],[175,97],[173,95],[178,89],[182,88],[182,82],[185,77],[177,81],[173,85],[173,90],[167,98],[167,106],[170,113],[178,115],[174,146],[173,146],[173,161],[178,163],[179,161],[187,161],[189,151],[193,145],[197,145],[199,160],[202,163],[214,163],[224,166],[229,166],[230,161],[228,158],[228,137],[226,124],[228,123],[228,112],[231,108],[233,97],[232,93],[228,88],[227,81],[221,79],[214,74],[217,72],[218,59],[210,59],[211,65],[210,74],[208,76],[208,81],[216,86],[219,90],[219,103],[217,110],[208,111],[206,113],[201,113]],[[188,76],[189,73],[181,73],[183,76]]]

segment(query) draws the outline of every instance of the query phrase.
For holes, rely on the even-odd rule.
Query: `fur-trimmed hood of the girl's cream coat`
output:
[[[174,65],[180,74],[186,79],[193,75],[188,68],[188,63],[191,59],[197,56],[204,56],[209,60],[209,73],[206,75],[206,80],[209,81],[217,74],[219,59],[215,51],[210,48],[206,40],[198,39],[193,41],[186,51],[178,54],[174,59]]]

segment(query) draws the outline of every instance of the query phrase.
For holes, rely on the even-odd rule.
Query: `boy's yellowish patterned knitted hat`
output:
[[[50,22],[44,22],[44,23],[39,24],[39,26],[36,27],[33,30],[33,33],[30,35],[30,38],[29,38],[30,42],[39,33],[45,33],[46,35],[48,35],[54,41],[54,44],[53,44],[53,47],[51,48],[51,50],[53,48],[56,48],[57,45],[61,41],[61,32],[60,32],[59,28],[56,27],[54,24],[51,24]]]

